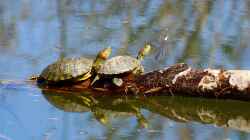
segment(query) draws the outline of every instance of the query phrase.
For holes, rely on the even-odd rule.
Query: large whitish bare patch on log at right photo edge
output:
[[[247,70],[228,70],[225,72],[230,76],[229,84],[240,91],[244,91],[250,85],[250,71]]]

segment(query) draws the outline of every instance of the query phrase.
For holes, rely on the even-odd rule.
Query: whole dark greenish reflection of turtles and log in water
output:
[[[177,122],[200,122],[250,132],[247,102],[189,97],[93,97],[84,93],[49,91],[44,91],[43,95],[55,107],[66,112],[91,111],[102,123],[123,115],[136,117],[137,123],[145,127],[148,124],[141,110],[148,110]]]

